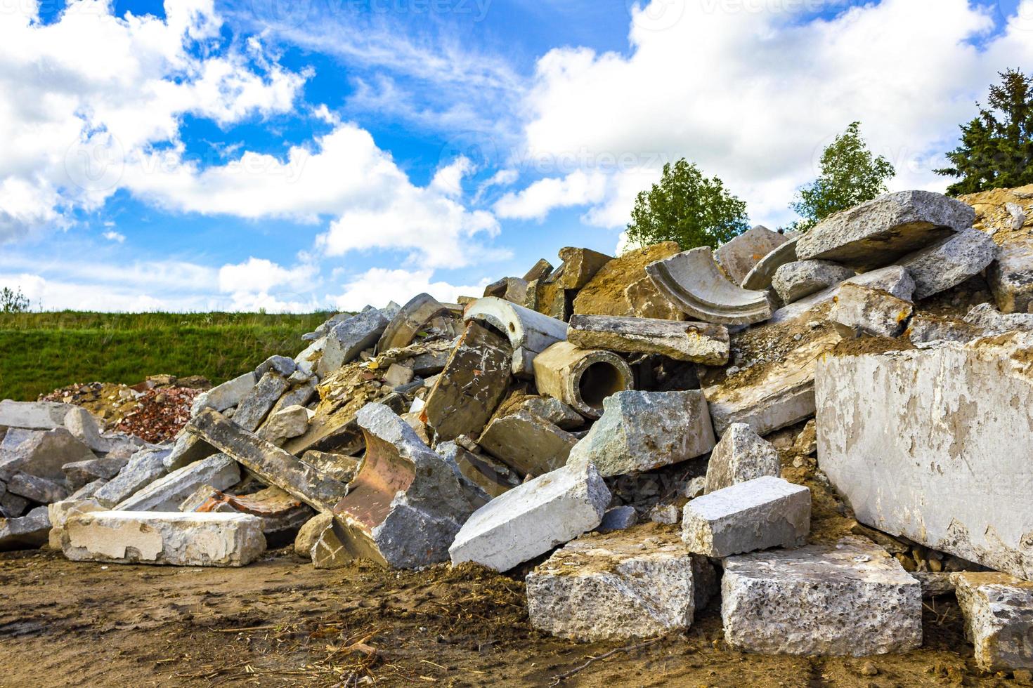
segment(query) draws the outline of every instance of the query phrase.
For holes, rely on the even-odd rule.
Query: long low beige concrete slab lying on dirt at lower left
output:
[[[246,514],[93,512],[65,523],[72,561],[246,566],[265,551],[261,519]]]

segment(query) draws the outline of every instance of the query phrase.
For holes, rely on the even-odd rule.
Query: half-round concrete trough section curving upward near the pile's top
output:
[[[707,247],[650,263],[646,272],[672,303],[690,317],[721,325],[750,325],[772,316],[766,292],[732,284]]]

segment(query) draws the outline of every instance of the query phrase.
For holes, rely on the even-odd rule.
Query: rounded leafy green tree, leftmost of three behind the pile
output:
[[[638,245],[678,241],[682,250],[718,247],[749,228],[746,202],[714,176],[707,178],[682,158],[663,166],[663,176],[635,199],[628,240]]]

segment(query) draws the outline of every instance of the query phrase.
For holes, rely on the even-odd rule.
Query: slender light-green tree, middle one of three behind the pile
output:
[[[886,193],[886,182],[896,174],[888,160],[868,150],[860,123],[851,123],[821,153],[818,178],[802,187],[789,204],[803,218],[790,229],[807,231],[831,215]]]

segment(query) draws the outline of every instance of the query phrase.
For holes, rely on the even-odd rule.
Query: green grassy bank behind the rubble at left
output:
[[[268,357],[293,358],[330,314],[0,314],[0,399],[33,400],[72,383],[134,385],[148,375],[214,384]]]

